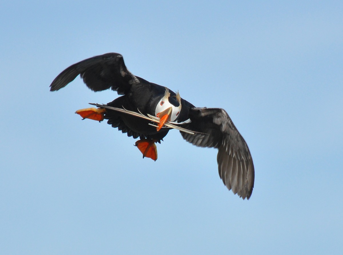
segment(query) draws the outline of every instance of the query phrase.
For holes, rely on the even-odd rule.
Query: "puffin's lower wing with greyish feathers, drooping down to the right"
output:
[[[218,170],[223,183],[234,194],[249,199],[255,179],[252,158],[227,112],[216,108],[190,108],[189,118],[192,122],[187,124],[187,129],[203,134],[181,132],[182,137],[197,146],[218,148]]]

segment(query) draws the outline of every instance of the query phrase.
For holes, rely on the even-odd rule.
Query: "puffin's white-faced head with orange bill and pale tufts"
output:
[[[164,96],[158,101],[155,116],[159,118],[156,128],[159,131],[167,121],[176,121],[181,112],[181,97],[179,92],[175,96],[170,96],[169,89],[166,88]]]

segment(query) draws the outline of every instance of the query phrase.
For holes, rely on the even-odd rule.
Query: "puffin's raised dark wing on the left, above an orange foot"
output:
[[[93,91],[111,88],[119,95],[127,93],[132,84],[139,83],[138,78],[127,70],[120,54],[106,53],[69,66],[51,83],[50,91],[63,88],[79,74]]]

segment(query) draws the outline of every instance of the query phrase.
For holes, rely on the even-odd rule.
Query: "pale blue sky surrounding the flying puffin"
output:
[[[339,254],[342,1],[2,1],[0,254]],[[224,108],[255,164],[249,201],[215,149],[170,131],[158,160],[75,110],[107,103],[83,59]]]

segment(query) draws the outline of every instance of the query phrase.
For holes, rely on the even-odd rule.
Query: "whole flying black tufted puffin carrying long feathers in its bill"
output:
[[[255,171],[249,148],[225,110],[199,108],[172,90],[133,75],[118,53],[85,59],[62,71],[50,85],[59,90],[80,74],[93,91],[111,88],[122,95],[108,104],[76,111],[83,119],[107,120],[122,133],[138,138],[135,146],[144,157],[157,159],[156,143],[170,129],[200,147],[218,149],[219,176],[224,185],[241,198],[249,199]]]

